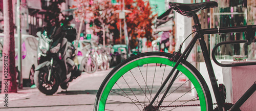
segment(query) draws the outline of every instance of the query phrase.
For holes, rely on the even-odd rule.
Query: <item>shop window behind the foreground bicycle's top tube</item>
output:
[[[217,2],[219,6],[218,8],[214,8],[214,20],[211,21],[214,28],[254,24],[253,21],[255,18],[253,18],[253,14],[255,12],[252,10],[254,7],[247,7],[247,3],[249,4],[250,2],[249,0],[218,0]],[[212,49],[217,43],[222,41],[243,39],[245,39],[244,33],[214,34],[210,38],[210,47]],[[249,46],[246,43],[222,45],[215,55],[218,59],[232,59],[233,55],[242,55],[248,59],[256,59],[255,50],[255,43],[252,43]]]

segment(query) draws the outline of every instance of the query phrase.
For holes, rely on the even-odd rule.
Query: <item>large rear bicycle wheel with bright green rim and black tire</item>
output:
[[[212,110],[208,86],[187,61],[182,61],[173,83],[169,79],[152,106],[149,106],[175,62],[172,54],[148,52],[126,59],[116,66],[101,84],[94,110]],[[168,84],[173,84],[158,105]]]

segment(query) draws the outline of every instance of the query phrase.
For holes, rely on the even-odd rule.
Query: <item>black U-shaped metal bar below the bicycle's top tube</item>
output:
[[[248,43],[249,42],[249,43]],[[214,60],[214,62],[219,65],[219,66],[223,66],[223,67],[228,67],[228,66],[245,66],[245,65],[256,65],[256,61],[254,62],[238,62],[238,63],[229,63],[229,64],[223,64],[217,61],[216,57],[215,57],[215,52],[217,50],[218,47],[220,47],[221,45],[229,45],[229,44],[236,44],[236,43],[247,43],[247,45],[251,44],[251,42],[256,42],[256,39],[253,40],[233,40],[233,41],[223,41],[220,43],[217,43],[217,45],[214,47],[214,49],[212,49],[212,60]]]

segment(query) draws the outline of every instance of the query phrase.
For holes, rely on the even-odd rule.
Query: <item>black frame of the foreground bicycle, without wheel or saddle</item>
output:
[[[208,54],[206,43],[204,41],[204,35],[205,34],[221,34],[221,33],[245,32],[247,34],[246,35],[246,39],[247,40],[246,41],[242,41],[242,42],[246,42],[248,45],[250,45],[251,42],[255,42],[256,41],[255,38],[253,38],[254,34],[255,34],[255,31],[256,31],[256,25],[253,25],[253,26],[239,26],[239,27],[227,27],[227,28],[201,29],[201,25],[199,23],[199,19],[198,19],[197,14],[193,13],[192,15],[193,15],[194,23],[195,23],[195,26],[193,26],[193,28],[195,28],[197,30],[197,34],[193,37],[193,39],[190,41],[190,43],[186,47],[185,51],[180,55],[180,57],[176,61],[176,64],[174,65],[174,69],[172,69],[172,71],[170,71],[169,75],[164,80],[163,84],[159,88],[158,92],[156,93],[156,96],[153,98],[153,100],[150,103],[150,105],[152,105],[154,103],[154,101],[157,98],[157,95],[159,95],[160,92],[163,90],[163,87],[166,85],[167,81],[170,79],[170,77],[175,72],[175,69],[177,68],[178,64],[182,60],[186,60],[186,58],[188,57],[189,53],[191,52],[191,50],[195,46],[195,43],[196,43],[196,41],[198,39],[199,42],[200,42],[200,46],[201,46],[201,49],[202,49],[203,57],[204,57],[205,64],[206,64],[206,67],[207,67],[207,71],[208,71],[208,74],[209,74],[211,86],[212,86],[212,89],[214,91],[214,95],[215,95],[215,98],[216,98],[216,101],[217,101],[217,105],[219,107],[219,110],[223,111],[223,110],[225,110],[225,108],[224,108],[225,100],[221,99],[221,94],[219,92],[219,86],[218,86],[218,83],[217,83],[217,80],[216,80],[216,77],[215,77],[214,69],[212,68],[212,65],[211,65],[211,60],[210,60],[210,56]],[[228,43],[230,43],[230,42],[231,41],[229,41]],[[181,50],[181,48],[180,48],[180,50]],[[178,52],[180,52],[180,50]],[[256,64],[256,62],[252,62],[250,65],[252,65],[252,64]],[[246,65],[246,64],[242,64],[242,65]],[[237,63],[236,65],[232,65],[232,66],[241,66],[241,64]],[[170,84],[168,84],[168,86],[166,88],[166,91],[165,91],[165,94],[163,95],[162,99],[160,100],[158,106],[160,106],[161,103],[163,102],[163,99],[165,98],[167,92],[169,91],[170,86],[172,86],[172,81],[174,81],[176,79],[178,73],[179,73],[179,71],[177,71],[175,73],[175,75],[174,75],[173,79],[171,80]],[[253,92],[255,90],[256,90],[256,82],[240,98],[241,100],[239,100],[237,103],[235,103],[230,108],[230,110],[238,109],[249,98],[249,96],[251,96],[253,94]]]

